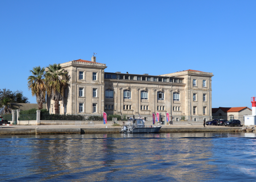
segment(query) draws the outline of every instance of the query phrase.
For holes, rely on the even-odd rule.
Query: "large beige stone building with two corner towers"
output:
[[[212,73],[185,70],[164,75],[105,72],[106,65],[82,59],[62,63],[70,82],[60,101],[60,114],[120,114],[152,119],[170,114],[172,121],[203,121],[211,117]],[[47,97],[54,113],[54,102]],[[172,116],[172,117],[171,117]]]

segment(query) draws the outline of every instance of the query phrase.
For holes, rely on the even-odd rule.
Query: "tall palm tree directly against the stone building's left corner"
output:
[[[68,72],[62,69],[59,64],[54,63],[47,67],[45,74],[47,95],[51,95],[51,99],[54,100],[55,114],[59,114],[58,102],[62,100],[64,88],[68,81]]]

